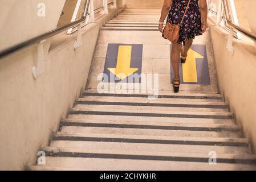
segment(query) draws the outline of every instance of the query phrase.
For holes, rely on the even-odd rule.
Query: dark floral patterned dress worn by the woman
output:
[[[171,19],[173,24],[180,25],[186,6],[188,5],[188,1],[189,0],[172,0],[172,6],[170,8],[167,21]],[[186,12],[184,21],[180,27],[180,38],[178,39],[178,44],[181,42],[185,44],[186,40],[194,39],[197,35],[202,35],[202,20],[198,1],[199,0],[190,1],[188,11]]]

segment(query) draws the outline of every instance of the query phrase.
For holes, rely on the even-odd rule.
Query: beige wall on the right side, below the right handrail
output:
[[[213,23],[210,32],[220,91],[256,152],[256,51],[253,43],[234,39],[232,54],[226,49],[227,32]]]

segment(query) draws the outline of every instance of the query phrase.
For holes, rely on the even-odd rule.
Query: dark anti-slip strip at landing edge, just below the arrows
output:
[[[115,93],[86,93],[82,96],[109,96],[109,97],[152,97],[148,94],[115,94]],[[208,99],[208,100],[222,100],[222,96],[175,96],[175,95],[159,95],[157,98],[188,98],[188,99]]]

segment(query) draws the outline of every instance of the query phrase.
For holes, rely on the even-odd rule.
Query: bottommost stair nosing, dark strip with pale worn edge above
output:
[[[54,151],[54,150],[59,151]],[[109,153],[108,153],[109,152]],[[100,158],[100,159],[132,159],[132,160],[161,160],[161,161],[175,161],[175,162],[201,162],[201,163],[209,163],[209,157],[206,157],[202,154],[186,156],[184,153],[168,153],[166,152],[153,152],[153,154],[130,154],[131,152],[123,152],[123,154],[119,154],[120,151],[90,151],[90,150],[77,150],[76,148],[58,148],[58,147],[47,147],[45,150],[46,156],[51,157],[66,157],[66,158]],[[127,153],[127,154],[125,154]],[[138,153],[138,152],[137,152]],[[151,152],[152,153],[152,152]],[[157,155],[156,155],[157,154]],[[165,154],[165,155],[164,155]],[[191,155],[191,154],[189,154]],[[202,155],[202,156],[200,156]],[[255,155],[247,154],[246,156],[242,155],[225,155],[222,154],[221,157],[218,155],[217,163],[229,163],[229,164],[256,164]],[[247,157],[247,158],[246,158]]]

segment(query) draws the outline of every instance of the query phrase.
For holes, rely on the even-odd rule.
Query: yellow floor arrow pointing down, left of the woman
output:
[[[116,68],[108,68],[120,80],[135,73],[138,68],[130,68],[132,57],[132,46],[119,46]]]

